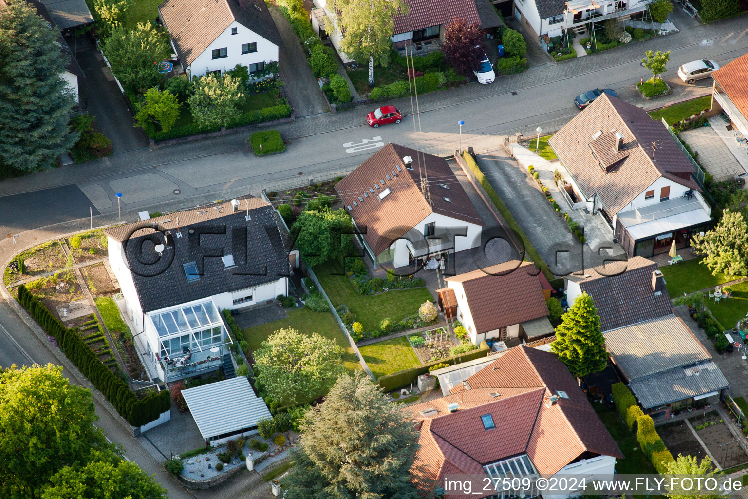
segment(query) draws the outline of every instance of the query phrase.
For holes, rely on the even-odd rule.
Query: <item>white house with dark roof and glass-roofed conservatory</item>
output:
[[[141,361],[163,381],[233,365],[221,310],[289,292],[272,206],[246,197],[111,227],[109,264]]]

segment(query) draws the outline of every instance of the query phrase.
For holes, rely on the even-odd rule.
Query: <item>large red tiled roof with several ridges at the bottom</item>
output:
[[[554,474],[583,453],[623,457],[574,377],[554,354],[515,347],[470,376],[468,384],[470,390],[459,385],[444,400],[405,409],[422,421],[422,447],[413,468],[422,489],[455,469],[484,474],[482,465],[524,453],[540,474]],[[549,407],[548,396],[558,391],[568,398],[559,397]],[[491,397],[492,392],[500,395]],[[446,405],[453,402],[459,409],[450,413]],[[423,416],[418,412],[429,408],[438,413]],[[494,429],[484,429],[483,414],[491,414]]]

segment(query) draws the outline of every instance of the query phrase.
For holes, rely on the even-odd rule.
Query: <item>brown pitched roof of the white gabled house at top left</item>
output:
[[[279,47],[281,34],[263,0],[166,0],[159,14],[184,67],[236,21]]]

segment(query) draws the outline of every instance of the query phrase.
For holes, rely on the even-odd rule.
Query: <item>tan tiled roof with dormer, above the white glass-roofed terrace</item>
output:
[[[602,136],[620,132],[625,154],[613,151]],[[605,144],[603,144],[605,142]],[[654,142],[654,161],[652,143]],[[574,177],[583,194],[592,198],[597,194],[608,214],[613,216],[626,209],[660,177],[666,177],[691,189],[699,186],[690,177],[693,166],[681,152],[660,121],[654,121],[646,111],[623,100],[602,94],[584,111],[577,114],[549,141],[554,152]],[[609,147],[602,153],[603,146]],[[617,159],[606,171],[601,168],[593,150],[597,148],[607,163]],[[625,157],[619,157],[625,156]]]

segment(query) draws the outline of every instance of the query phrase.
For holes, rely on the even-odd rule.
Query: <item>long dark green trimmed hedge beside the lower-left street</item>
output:
[[[18,301],[46,334],[55,338],[67,358],[132,426],[150,423],[171,408],[168,390],[138,400],[129,386],[96,358],[96,354],[81,340],[78,328],[66,328],[24,285],[18,288]]]

